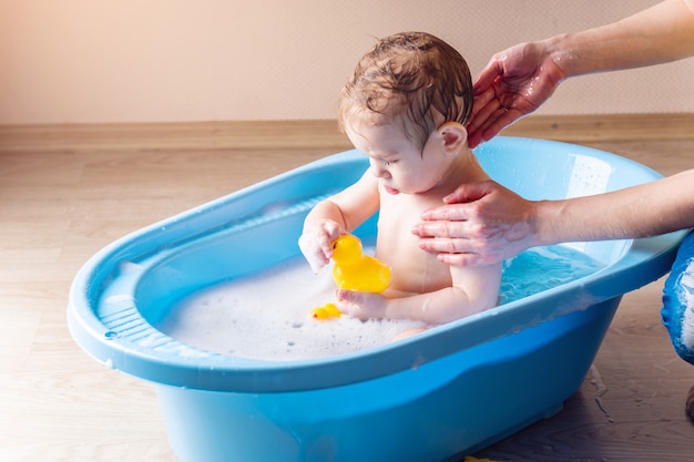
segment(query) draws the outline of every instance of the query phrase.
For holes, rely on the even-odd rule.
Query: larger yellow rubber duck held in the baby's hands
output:
[[[390,268],[385,263],[361,254],[361,242],[345,234],[333,243],[333,279],[340,289],[382,292],[390,285]]]

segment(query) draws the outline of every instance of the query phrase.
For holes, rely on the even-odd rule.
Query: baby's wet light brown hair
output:
[[[343,131],[354,117],[395,123],[421,147],[446,122],[468,123],[472,80],[465,59],[425,32],[401,32],[379,40],[361,58],[339,99]]]

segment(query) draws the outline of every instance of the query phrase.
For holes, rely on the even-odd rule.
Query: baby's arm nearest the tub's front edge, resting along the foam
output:
[[[451,267],[453,285],[428,294],[387,298],[379,294],[337,290],[340,310],[360,319],[414,319],[445,324],[492,308],[501,284],[501,265]]]

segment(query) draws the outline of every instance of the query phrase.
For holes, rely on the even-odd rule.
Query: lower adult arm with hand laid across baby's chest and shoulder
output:
[[[466,184],[422,214],[420,248],[450,265],[489,265],[563,242],[654,236],[694,227],[694,170],[612,193],[527,201],[494,182]],[[436,237],[433,237],[436,236]]]

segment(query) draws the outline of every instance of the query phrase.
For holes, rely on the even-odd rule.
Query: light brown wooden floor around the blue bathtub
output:
[[[694,165],[692,140],[593,145],[664,174]],[[65,309],[75,271],[129,232],[331,152],[0,150],[0,461],[176,461],[153,387],[99,365],[72,341]],[[684,413],[694,368],[675,356],[661,326],[662,284],[624,297],[562,412],[477,456],[694,461]]]

